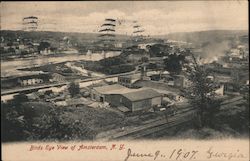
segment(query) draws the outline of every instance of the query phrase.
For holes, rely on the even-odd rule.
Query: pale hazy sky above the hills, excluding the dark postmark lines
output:
[[[1,29],[20,30],[22,18],[37,16],[38,30],[96,32],[105,18],[123,20],[131,33],[137,20],[146,34],[199,30],[247,30],[247,1],[1,2]]]

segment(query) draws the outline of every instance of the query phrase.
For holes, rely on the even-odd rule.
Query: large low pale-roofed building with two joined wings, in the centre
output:
[[[94,87],[91,98],[108,102],[123,112],[146,110],[162,103],[162,94],[153,89],[130,89],[119,84]]]

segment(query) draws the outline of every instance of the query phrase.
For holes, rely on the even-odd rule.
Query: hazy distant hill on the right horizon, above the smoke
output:
[[[204,42],[220,41],[235,36],[248,35],[247,30],[208,30],[208,31],[195,31],[195,32],[178,32],[170,33],[167,35],[158,36],[162,39],[170,39],[176,41],[185,41],[194,44]]]

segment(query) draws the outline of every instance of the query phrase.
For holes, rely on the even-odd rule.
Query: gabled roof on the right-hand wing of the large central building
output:
[[[137,90],[129,93],[122,94],[124,97],[129,99],[130,101],[139,101],[144,99],[150,99],[154,97],[160,97],[161,94],[156,92],[153,89],[143,89]]]

